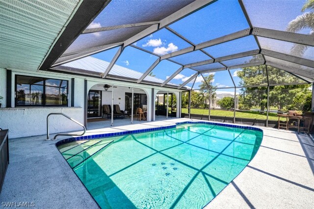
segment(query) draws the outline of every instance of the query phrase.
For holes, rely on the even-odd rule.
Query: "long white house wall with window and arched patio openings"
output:
[[[114,104],[119,104],[120,109],[125,109],[125,93],[132,92],[134,87],[134,93],[141,93],[147,95],[147,110],[148,121],[155,119],[155,114],[150,114],[151,111],[155,113],[155,102],[152,103],[152,88],[154,86],[148,86],[137,83],[130,83],[125,81],[106,80],[101,78],[86,78],[83,76],[71,76],[60,73],[52,72],[26,72],[22,70],[12,70],[12,80],[6,80],[6,69],[0,68],[0,96],[1,100],[0,108],[0,128],[9,130],[10,138],[19,138],[35,135],[44,135],[47,132],[46,118],[49,113],[61,112],[64,113],[78,122],[84,124],[84,81],[87,80],[87,92],[90,89],[104,90],[103,87],[98,87],[97,84],[115,84],[118,88],[114,88]],[[14,107],[14,95],[15,95],[15,75],[25,75],[33,77],[46,77],[55,79],[69,80],[69,106],[60,107]],[[74,107],[71,107],[71,78],[74,78]],[[6,108],[6,83],[12,82],[12,107]],[[130,87],[130,88],[129,88]],[[139,89],[138,89],[139,88]],[[158,90],[167,91],[167,88],[161,88]],[[158,92],[155,90],[155,94]],[[175,90],[176,91],[176,90]],[[180,90],[176,91],[176,95],[179,95]],[[103,91],[103,104],[111,104],[111,92]],[[155,95],[154,95],[155,96]],[[119,100],[121,98],[121,100]],[[179,117],[179,113],[177,115]],[[76,123],[69,121],[67,118],[60,115],[50,116],[50,133],[68,132],[68,131],[80,131],[82,128]]]

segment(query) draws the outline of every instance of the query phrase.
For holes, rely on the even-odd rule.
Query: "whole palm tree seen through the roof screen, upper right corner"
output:
[[[314,36],[314,0],[307,0],[303,5],[301,11],[309,9],[309,12],[306,12],[302,15],[297,16],[294,20],[292,20],[288,27],[288,32],[297,32],[305,28],[311,29],[309,35]],[[309,46],[296,44],[292,47],[291,52],[302,55]]]

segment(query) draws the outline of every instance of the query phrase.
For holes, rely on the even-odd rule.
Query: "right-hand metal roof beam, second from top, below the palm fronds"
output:
[[[314,68],[314,61],[310,60],[310,59],[304,59],[301,57],[292,56],[292,55],[280,53],[280,52],[274,52],[274,51],[270,51],[270,50],[264,50],[264,49],[262,49],[261,53],[266,55],[266,56],[271,56],[271,57],[274,57],[277,59],[282,59],[282,60],[285,60],[288,62],[292,62],[292,63],[296,63],[299,65],[304,65],[304,66]]]

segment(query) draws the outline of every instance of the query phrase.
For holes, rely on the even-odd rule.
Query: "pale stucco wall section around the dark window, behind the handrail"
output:
[[[12,80],[15,75],[25,75],[21,72],[12,72]],[[35,75],[34,75],[35,76]],[[69,79],[70,77],[58,77],[38,74],[49,78]],[[14,89],[14,82],[12,88]],[[69,82],[69,86],[71,83]],[[0,95],[6,92],[6,70],[0,69]],[[3,95],[4,97],[4,95]],[[69,93],[69,99],[71,94]],[[12,103],[14,104],[14,90],[12,91]],[[5,103],[4,103],[5,104]],[[69,101],[70,104],[70,101]],[[69,115],[80,123],[84,123],[84,79],[75,78],[74,104],[76,107],[15,107],[0,108],[0,128],[9,129],[10,138],[19,138],[47,133],[46,117],[52,112],[61,112]],[[3,105],[3,100],[2,100]],[[2,107],[5,107],[2,106]],[[50,133],[78,131],[82,128],[63,116],[50,116]]]

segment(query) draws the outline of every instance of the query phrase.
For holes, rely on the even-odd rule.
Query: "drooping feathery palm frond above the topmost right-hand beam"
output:
[[[314,12],[307,12],[297,16],[288,24],[287,31],[297,32],[304,28],[310,28],[314,30]]]

